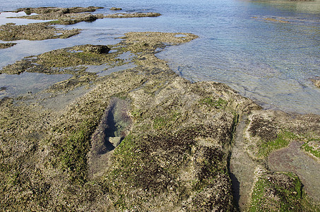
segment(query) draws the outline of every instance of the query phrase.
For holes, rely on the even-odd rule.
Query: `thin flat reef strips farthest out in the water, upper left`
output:
[[[89,6],[87,8],[55,8],[55,7],[40,7],[40,8],[19,8],[17,11],[24,11],[28,16],[18,16],[14,18],[26,18],[36,20],[49,20],[45,23],[30,23],[28,25],[15,25],[7,23],[0,25],[0,40],[47,40],[55,38],[68,38],[73,35],[78,35],[81,32],[79,29],[61,29],[54,25],[72,25],[79,22],[92,22],[99,18],[140,18],[140,17],[157,17],[160,13],[116,13],[116,14],[93,14],[101,7]],[[1,48],[9,47],[1,45]]]

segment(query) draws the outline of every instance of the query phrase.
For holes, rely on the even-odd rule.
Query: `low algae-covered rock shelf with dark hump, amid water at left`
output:
[[[101,65],[119,63],[118,54],[107,54],[109,47],[105,45],[82,45],[45,52],[35,57],[25,57],[14,64],[1,69],[0,73],[18,74],[24,71],[37,73],[71,73],[81,71],[79,67],[59,69],[71,66]],[[83,67],[84,68],[84,67]]]

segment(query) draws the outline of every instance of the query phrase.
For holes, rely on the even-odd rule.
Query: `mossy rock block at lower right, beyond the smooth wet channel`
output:
[[[246,122],[244,139],[240,142],[243,143],[242,151],[251,158],[247,159],[251,160],[251,170],[247,172],[254,172],[254,175],[245,178],[245,173],[238,172],[236,176],[238,179],[244,177],[244,182],[254,181],[254,184],[249,205],[244,208],[254,211],[266,211],[266,208],[271,211],[319,210],[319,204],[318,209],[312,206],[312,202],[320,200],[320,192],[315,189],[320,186],[317,179],[320,175],[319,115],[256,110],[249,114]],[[306,164],[310,169],[304,169]],[[279,171],[285,172],[280,174]],[[301,184],[305,184],[303,191]]]

